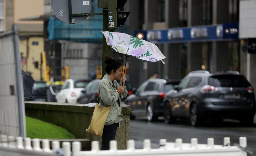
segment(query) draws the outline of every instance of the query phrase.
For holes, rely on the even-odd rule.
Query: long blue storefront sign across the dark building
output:
[[[144,40],[152,43],[184,43],[238,39],[238,23],[223,23],[164,30],[134,31],[134,36],[143,33]]]

